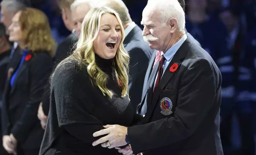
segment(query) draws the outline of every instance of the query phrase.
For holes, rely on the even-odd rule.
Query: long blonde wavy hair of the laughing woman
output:
[[[67,60],[76,60],[80,68],[83,69],[86,67],[87,72],[91,77],[91,83],[97,85],[97,87],[99,87],[99,89],[102,91],[103,95],[107,94],[110,98],[112,98],[113,92],[106,87],[109,76],[105,74],[95,63],[95,52],[93,46],[93,41],[97,38],[99,33],[101,17],[105,13],[114,15],[121,26],[122,40],[112,63],[115,77],[116,79],[120,79],[120,85],[122,86],[122,97],[124,97],[128,95],[128,65],[130,57],[123,45],[124,26],[118,13],[116,13],[116,11],[113,9],[108,7],[93,8],[87,13],[83,19],[76,50],[64,61],[68,62]],[[57,68],[64,63],[60,63]]]

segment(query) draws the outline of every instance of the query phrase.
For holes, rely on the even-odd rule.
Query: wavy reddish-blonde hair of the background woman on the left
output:
[[[54,56],[56,43],[50,31],[48,19],[42,11],[34,8],[24,8],[19,16],[24,42],[21,48],[28,48],[33,52],[47,51]]]

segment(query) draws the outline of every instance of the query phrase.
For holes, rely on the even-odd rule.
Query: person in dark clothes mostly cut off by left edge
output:
[[[4,92],[4,85],[6,83],[7,65],[10,60],[11,45],[6,36],[5,26],[0,24],[0,109],[2,108],[2,95]],[[1,118],[1,111],[0,111]],[[1,120],[1,119],[0,119]],[[0,134],[2,135],[2,125],[0,124]],[[2,137],[2,136],[1,136]],[[0,140],[0,155],[7,155],[8,153],[3,147],[2,139]]]

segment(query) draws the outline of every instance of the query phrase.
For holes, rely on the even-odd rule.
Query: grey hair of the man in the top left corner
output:
[[[17,0],[2,0],[1,2],[1,8],[4,8],[9,13],[16,13],[25,7],[25,4]]]

